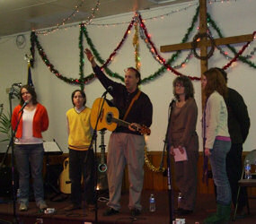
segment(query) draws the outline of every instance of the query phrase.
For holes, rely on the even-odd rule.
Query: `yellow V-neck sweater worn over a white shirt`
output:
[[[68,147],[76,151],[86,151],[89,148],[92,133],[90,125],[91,108],[84,108],[79,114],[75,108],[67,110]]]

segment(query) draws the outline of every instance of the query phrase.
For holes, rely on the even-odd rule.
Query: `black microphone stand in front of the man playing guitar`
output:
[[[93,147],[93,141],[94,141],[94,193],[95,193],[95,223],[98,223],[98,192],[97,192],[97,181],[98,181],[98,159],[97,159],[97,126],[100,120],[100,117],[102,115],[102,108],[103,105],[105,103],[106,100],[106,95],[108,93],[108,90],[106,90],[103,94],[102,94],[102,105],[101,108],[99,110],[98,116],[97,116],[97,120],[96,120],[96,124],[95,127],[93,127],[93,137],[92,137],[92,141],[90,143],[89,146],[89,150],[92,149]],[[86,161],[86,158],[84,159]]]

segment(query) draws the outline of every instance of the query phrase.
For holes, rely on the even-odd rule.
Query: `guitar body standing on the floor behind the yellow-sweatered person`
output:
[[[59,176],[59,190],[63,194],[71,194],[71,182],[69,179],[69,158],[63,162],[63,171]]]

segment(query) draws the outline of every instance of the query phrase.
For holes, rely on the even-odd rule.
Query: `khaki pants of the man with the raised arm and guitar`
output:
[[[112,133],[108,147],[108,182],[110,201],[108,206],[114,210],[120,209],[122,177],[126,164],[128,165],[129,203],[128,208],[141,210],[141,191],[144,181],[144,147],[142,135]]]

